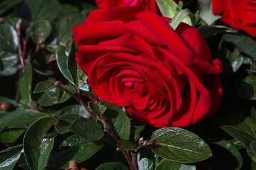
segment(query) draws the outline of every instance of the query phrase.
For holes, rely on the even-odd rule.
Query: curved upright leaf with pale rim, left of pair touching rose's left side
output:
[[[64,46],[59,46],[56,52],[56,60],[58,64],[58,68],[60,69],[60,72],[63,74],[63,76],[68,79],[72,84],[74,84],[72,75],[70,71],[68,70],[68,55],[65,51]],[[75,85],[75,84],[74,84]]]

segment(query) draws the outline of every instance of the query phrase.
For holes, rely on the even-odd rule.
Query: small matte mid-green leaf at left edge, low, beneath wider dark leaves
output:
[[[25,130],[8,130],[0,133],[0,142],[6,146],[11,146],[16,142],[22,135]]]

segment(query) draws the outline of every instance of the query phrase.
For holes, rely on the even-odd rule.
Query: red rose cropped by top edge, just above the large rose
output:
[[[143,8],[144,11],[154,11],[159,13],[159,8],[155,0],[95,0],[100,8],[114,8],[120,6],[137,6]],[[181,0],[174,0],[176,3]],[[183,2],[188,0],[182,0]]]

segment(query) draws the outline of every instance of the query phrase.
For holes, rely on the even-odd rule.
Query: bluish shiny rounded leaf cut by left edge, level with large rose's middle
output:
[[[18,70],[15,67],[16,64],[18,64],[18,57],[16,54],[12,52],[0,51],[0,77],[15,74]]]

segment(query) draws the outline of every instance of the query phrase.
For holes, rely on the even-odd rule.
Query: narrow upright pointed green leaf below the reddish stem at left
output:
[[[19,84],[19,91],[21,95],[20,102],[28,108],[32,107],[31,84],[32,84],[32,67],[31,67],[31,61],[29,57],[26,70],[23,73],[20,84]]]

